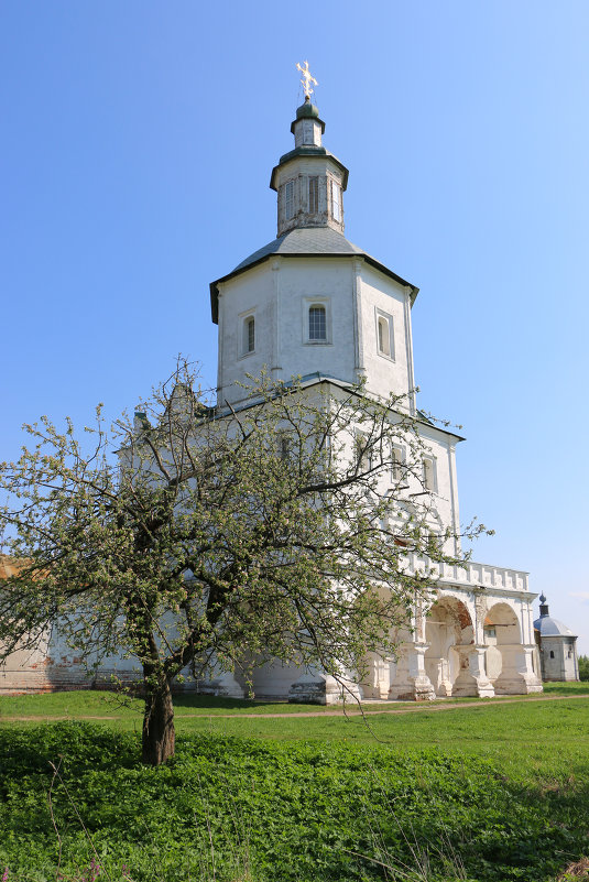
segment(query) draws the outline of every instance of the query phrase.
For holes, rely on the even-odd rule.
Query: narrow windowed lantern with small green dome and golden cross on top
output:
[[[305,63],[306,64],[306,63]],[[299,67],[305,77],[305,68]],[[276,190],[277,236],[304,227],[330,227],[343,232],[343,193],[348,170],[323,146],[325,122],[312,104],[308,80],[316,80],[306,69],[305,101],[291,124],[294,150],[281,156],[272,170],[270,186]]]

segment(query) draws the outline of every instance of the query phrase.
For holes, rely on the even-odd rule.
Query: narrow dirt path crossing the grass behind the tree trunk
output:
[[[477,708],[477,707],[499,707],[501,705],[528,705],[531,701],[568,701],[570,699],[589,699],[589,694],[587,695],[538,695],[537,697],[534,696],[533,698],[500,698],[497,704],[492,698],[481,699],[480,701],[440,701],[439,704],[429,704],[428,701],[419,701],[415,705],[406,705],[403,703],[402,706],[399,707],[391,707],[389,704],[384,704],[382,709],[373,710],[372,708],[374,705],[371,705],[371,709],[367,710],[359,710],[357,708],[350,707],[347,710],[342,708],[338,708],[336,710],[304,710],[299,711],[298,714],[207,714],[204,710],[201,714],[176,714],[176,722],[181,720],[195,720],[195,719],[217,719],[217,720],[230,720],[230,719],[247,719],[247,720],[280,720],[280,719],[297,719],[298,717],[303,719],[308,719],[309,717],[373,717],[378,716],[379,714],[421,714],[426,710],[457,710],[462,708],[466,710],[468,708]],[[367,703],[370,704],[370,703]],[[391,703],[392,704],[392,703]],[[62,715],[62,716],[31,716],[31,717],[4,717],[0,715],[0,722],[50,722],[52,720],[120,720],[120,715],[109,715],[109,716],[96,716],[96,715],[85,715],[85,716],[70,716],[70,715]]]

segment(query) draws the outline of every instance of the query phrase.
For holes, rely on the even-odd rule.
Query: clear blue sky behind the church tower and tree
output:
[[[0,2],[2,437],[133,407],[208,284],[275,236],[308,58],[348,238],[421,287],[421,404],[463,425],[475,557],[527,569],[589,652],[589,6]]]

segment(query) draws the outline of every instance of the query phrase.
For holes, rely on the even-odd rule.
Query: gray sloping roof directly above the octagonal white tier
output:
[[[274,254],[281,254],[288,258],[336,258],[341,255],[357,254],[358,257],[363,258],[367,263],[370,263],[377,270],[380,270],[385,275],[394,279],[394,281],[399,282],[401,285],[408,285],[412,288],[412,303],[419,291],[418,287],[412,285],[411,282],[406,282],[383,263],[378,261],[375,258],[372,258],[361,248],[358,248],[358,246],[349,242],[345,236],[342,236],[340,232],[336,232],[336,230],[332,230],[330,227],[297,227],[290,232],[285,232],[284,236],[273,239],[263,248],[259,248],[258,251],[253,252],[253,254],[250,254],[248,258],[246,258],[246,260],[242,260],[241,263],[238,263],[234,270],[232,270],[230,273],[223,275],[222,279],[217,279],[216,282],[211,282],[210,307],[212,320],[215,323],[217,322],[218,317],[219,292],[217,285],[220,282],[226,282],[228,279],[231,279],[238,273],[247,271],[251,266],[255,266],[258,263],[262,263],[262,261],[268,260]]]

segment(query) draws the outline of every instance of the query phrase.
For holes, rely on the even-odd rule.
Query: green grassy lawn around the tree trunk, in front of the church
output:
[[[184,697],[176,758],[160,769],[139,763],[140,703],[2,697],[0,872],[94,882],[94,859],[96,882],[554,882],[589,853],[589,699],[576,698],[589,690],[546,692],[564,697],[369,725]]]

